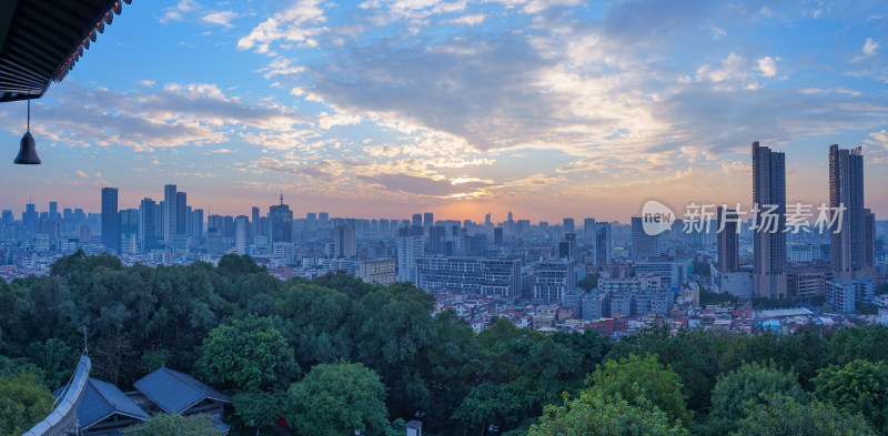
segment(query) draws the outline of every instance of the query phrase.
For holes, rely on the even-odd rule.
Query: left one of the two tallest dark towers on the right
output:
[[[786,162],[784,153],[753,142],[753,272],[760,297],[786,296]]]

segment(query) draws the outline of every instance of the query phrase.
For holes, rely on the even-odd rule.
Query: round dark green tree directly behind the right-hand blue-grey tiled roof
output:
[[[283,387],[299,374],[293,348],[269,318],[248,316],[213,328],[198,364],[209,383],[240,391]]]

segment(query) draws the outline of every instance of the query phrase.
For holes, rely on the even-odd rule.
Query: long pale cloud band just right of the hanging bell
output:
[[[32,130],[65,146],[130,146],[137,151],[226,143],[256,131],[292,132],[310,121],[272,102],[244,102],[211,83],[167,83],[160,89],[87,90],[68,80],[41,102]],[[0,112],[2,125],[14,125]],[[235,133],[236,132],[236,133]]]

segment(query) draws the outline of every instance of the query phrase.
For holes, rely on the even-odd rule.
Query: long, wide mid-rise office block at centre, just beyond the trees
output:
[[[521,260],[483,257],[420,257],[416,286],[425,291],[497,295],[521,294]]]

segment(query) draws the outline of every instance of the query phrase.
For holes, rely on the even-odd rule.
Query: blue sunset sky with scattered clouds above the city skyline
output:
[[[0,207],[162,200],[209,213],[627,222],[647,200],[751,203],[753,141],[788,202],[862,146],[888,219],[888,2],[137,0],[32,102],[42,165]]]

